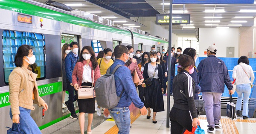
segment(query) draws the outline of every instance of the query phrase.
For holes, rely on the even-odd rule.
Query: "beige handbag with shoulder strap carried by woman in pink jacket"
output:
[[[91,99],[94,97],[94,70],[93,70],[93,82],[92,86],[80,86],[78,91],[77,91],[77,97],[78,99]]]

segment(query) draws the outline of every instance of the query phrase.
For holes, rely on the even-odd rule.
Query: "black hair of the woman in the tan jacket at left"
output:
[[[15,58],[14,58],[15,66],[22,67],[23,57],[29,55],[29,50],[32,50],[32,47],[29,45],[21,45],[18,48],[17,54],[15,55]]]

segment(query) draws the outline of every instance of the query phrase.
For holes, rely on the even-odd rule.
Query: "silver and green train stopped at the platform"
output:
[[[168,48],[168,42],[160,38],[107,26],[32,0],[1,0],[0,18],[1,134],[6,132],[6,126],[12,125],[8,77],[15,68],[14,57],[19,46],[28,44],[33,47],[36,64],[31,67],[38,74],[38,92],[49,105],[45,113],[36,105],[31,112],[40,129],[69,117],[69,112],[62,110],[61,101],[61,47],[64,43],[78,42],[79,51],[83,46],[92,46],[96,54],[103,48],[113,49],[119,44],[132,45],[134,50],[143,51],[150,51],[151,46],[158,51]]]

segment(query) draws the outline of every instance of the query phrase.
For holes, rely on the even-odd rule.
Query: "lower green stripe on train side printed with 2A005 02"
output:
[[[38,93],[40,97],[55,94],[62,91],[62,82],[50,83],[38,86]],[[10,105],[9,92],[0,94],[0,108]]]

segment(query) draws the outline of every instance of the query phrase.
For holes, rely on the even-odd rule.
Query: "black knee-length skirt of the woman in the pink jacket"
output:
[[[92,86],[92,83],[82,83],[81,86]],[[95,97],[91,99],[77,99],[79,113],[95,113]]]

